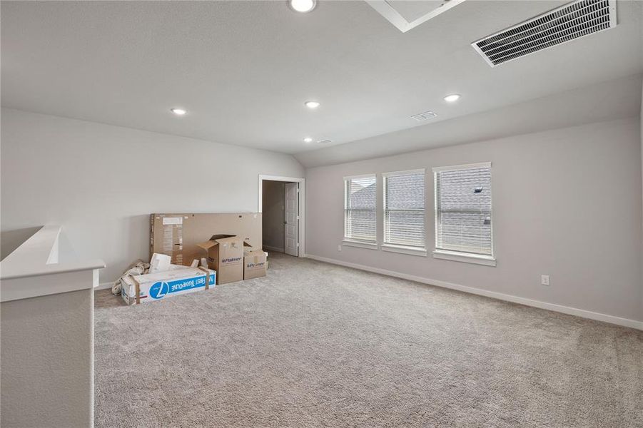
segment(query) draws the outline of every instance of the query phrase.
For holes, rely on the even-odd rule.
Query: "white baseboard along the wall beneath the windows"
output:
[[[643,321],[629,320],[628,318],[621,318],[621,317],[614,317],[613,315],[602,314],[599,312],[592,312],[590,310],[578,309],[576,307],[556,305],[555,303],[541,302],[540,300],[532,300],[532,299],[527,299],[525,297],[507,295],[501,292],[483,290],[482,288],[467,287],[466,285],[453,284],[452,282],[432,280],[430,278],[419,277],[416,275],[408,275],[406,273],[395,272],[393,270],[380,269],[379,267],[370,267],[366,265],[358,265],[357,263],[343,262],[342,260],[335,260],[331,258],[320,257],[318,255],[307,254],[306,257],[313,260],[318,260],[320,262],[332,263],[333,265],[353,267],[354,269],[366,270],[368,272],[379,273],[381,275],[387,275],[391,277],[398,277],[398,278],[401,278],[402,280],[422,282],[422,284],[435,285],[437,287],[449,288],[451,290],[458,290],[458,291],[468,292],[475,295],[492,297],[493,299],[505,300],[507,302],[519,303],[520,305],[538,307],[540,309],[552,310],[554,312],[562,312],[567,315],[576,315],[577,317],[589,318],[590,320],[609,322],[610,324],[622,325],[623,327],[631,327],[638,330],[643,330]]]

